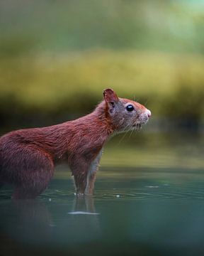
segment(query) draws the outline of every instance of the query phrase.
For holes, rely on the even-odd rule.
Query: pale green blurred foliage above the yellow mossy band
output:
[[[0,38],[38,50],[137,48],[203,53],[200,0],[1,0]],[[33,48],[31,43],[30,48]]]

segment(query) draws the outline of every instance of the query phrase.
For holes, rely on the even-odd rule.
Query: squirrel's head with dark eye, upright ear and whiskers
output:
[[[123,99],[112,89],[103,92],[106,102],[106,113],[114,125],[115,132],[126,132],[142,128],[151,117],[150,110],[133,100]]]

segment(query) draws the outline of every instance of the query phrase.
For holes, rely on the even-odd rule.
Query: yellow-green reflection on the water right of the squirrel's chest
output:
[[[157,170],[180,167],[185,171],[203,169],[203,136],[192,137],[192,134],[171,132],[148,135],[147,132],[137,132],[131,136],[128,134],[125,139],[120,135],[122,141],[115,137],[108,142],[101,166],[148,166]],[[118,172],[116,175],[119,175]]]

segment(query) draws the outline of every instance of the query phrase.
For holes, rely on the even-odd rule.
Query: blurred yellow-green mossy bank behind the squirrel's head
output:
[[[200,56],[98,50],[10,58],[7,65],[5,61],[0,65],[0,112],[8,116],[40,111],[52,118],[64,114],[66,119],[86,114],[106,87],[147,105],[157,117],[199,122],[204,116]]]

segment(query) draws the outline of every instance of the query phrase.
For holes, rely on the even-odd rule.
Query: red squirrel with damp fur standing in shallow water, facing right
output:
[[[105,142],[136,130],[151,112],[112,89],[94,112],[50,127],[20,129],[0,137],[0,184],[13,183],[13,198],[35,198],[47,188],[56,164],[67,161],[77,195],[91,195]]]

